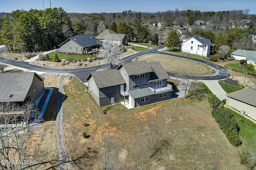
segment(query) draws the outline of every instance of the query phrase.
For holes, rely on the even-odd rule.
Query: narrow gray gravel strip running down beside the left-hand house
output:
[[[68,77],[60,76],[60,92],[58,96],[58,107],[57,107],[57,117],[56,117],[56,138],[58,146],[58,155],[60,158],[60,166],[58,169],[63,170],[74,170],[72,164],[70,164],[71,159],[68,157],[68,151],[65,145],[65,133],[63,126],[63,93],[64,93],[64,82]]]

